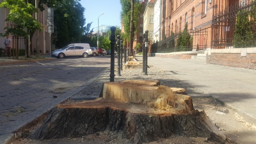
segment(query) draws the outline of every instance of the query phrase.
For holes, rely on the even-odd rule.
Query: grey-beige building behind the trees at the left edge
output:
[[[38,3],[39,0],[36,0],[36,3]],[[3,0],[0,0],[0,3],[3,2]],[[0,33],[5,33],[4,28],[5,27],[14,27],[14,23],[11,21],[5,21],[6,16],[9,14],[9,10],[6,8],[0,8]],[[47,31],[47,7],[45,7],[44,11],[40,11],[38,9],[38,13],[34,14],[33,17],[38,20],[38,22],[42,25],[41,31],[36,31],[36,33],[32,37],[31,41],[31,47],[30,51],[33,52],[34,49],[38,50],[41,54],[45,53],[51,53],[51,39],[50,39],[50,33]],[[25,39],[23,37],[19,38],[19,41],[17,42],[17,37],[13,36],[12,34],[9,34],[10,38],[13,41],[12,47],[18,49],[25,49]],[[4,48],[4,40],[5,37],[0,37],[0,47]],[[54,50],[54,49],[52,49]]]

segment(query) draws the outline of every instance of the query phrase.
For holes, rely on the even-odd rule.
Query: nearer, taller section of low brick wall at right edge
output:
[[[209,50],[206,62],[256,70],[256,48]]]

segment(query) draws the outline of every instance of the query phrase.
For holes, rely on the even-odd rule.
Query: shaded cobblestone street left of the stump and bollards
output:
[[[67,92],[78,89],[107,67],[109,56],[0,65],[0,135],[12,132],[25,119],[33,120],[29,114],[38,113],[39,108],[67,99]]]

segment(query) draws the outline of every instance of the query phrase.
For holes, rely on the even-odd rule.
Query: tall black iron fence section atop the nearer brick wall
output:
[[[218,12],[212,20],[212,48],[255,47],[255,22],[255,1],[243,1]]]

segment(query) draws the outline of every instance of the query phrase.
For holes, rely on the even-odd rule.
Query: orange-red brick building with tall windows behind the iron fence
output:
[[[178,34],[188,24],[193,50],[212,48],[212,19],[239,0],[162,0],[161,40]],[[216,31],[214,31],[216,32]]]

